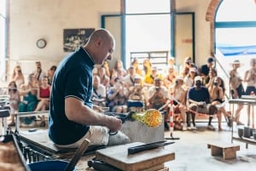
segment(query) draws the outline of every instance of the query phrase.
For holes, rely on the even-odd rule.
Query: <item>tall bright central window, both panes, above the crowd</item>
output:
[[[123,58],[125,66],[130,66],[134,53],[167,51],[170,55],[170,2],[169,0],[125,1],[125,58]],[[166,66],[166,61],[163,60],[162,65]]]

